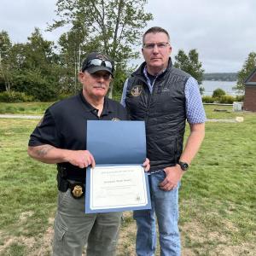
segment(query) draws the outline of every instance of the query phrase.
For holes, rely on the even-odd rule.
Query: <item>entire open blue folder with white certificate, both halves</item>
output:
[[[150,209],[144,121],[87,120],[86,134],[85,213]]]

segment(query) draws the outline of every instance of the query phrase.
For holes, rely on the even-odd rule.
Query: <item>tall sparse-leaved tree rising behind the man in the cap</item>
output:
[[[142,29],[152,20],[152,15],[144,11],[146,3],[147,0],[58,0],[56,15],[60,20],[55,20],[49,30],[71,26],[71,31],[81,35],[76,51],[82,57],[93,46],[112,57],[117,69],[124,73],[127,61],[138,56],[135,45],[141,40]],[[112,91],[113,86],[110,97]]]

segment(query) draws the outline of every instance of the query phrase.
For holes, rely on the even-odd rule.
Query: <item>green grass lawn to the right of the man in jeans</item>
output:
[[[237,113],[214,118],[222,115]],[[195,255],[256,255],[256,114],[239,116],[243,123],[206,124],[201,151],[183,177],[183,247]]]

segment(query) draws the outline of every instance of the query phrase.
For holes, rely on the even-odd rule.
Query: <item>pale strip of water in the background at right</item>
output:
[[[236,96],[236,90],[232,90],[232,87],[236,86],[236,81],[202,81],[202,86],[205,88],[204,96],[212,96],[213,90],[218,88],[225,91],[227,95]]]

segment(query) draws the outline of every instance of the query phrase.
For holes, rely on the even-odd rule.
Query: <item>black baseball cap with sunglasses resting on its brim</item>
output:
[[[113,61],[108,57],[99,52],[92,52],[84,59],[82,65],[82,72],[85,70],[88,73],[96,73],[97,71],[108,71],[113,76]]]

